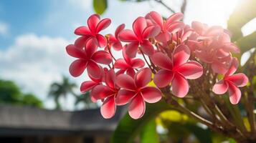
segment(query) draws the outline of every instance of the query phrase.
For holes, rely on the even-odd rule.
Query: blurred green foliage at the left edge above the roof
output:
[[[14,82],[5,80],[0,80],[0,103],[43,107],[34,94],[23,94]]]

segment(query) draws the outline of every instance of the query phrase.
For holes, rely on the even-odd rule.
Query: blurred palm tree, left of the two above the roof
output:
[[[51,84],[49,89],[49,97],[54,99],[56,109],[62,109],[60,105],[60,97],[67,98],[67,94],[74,94],[73,88],[77,87],[75,83],[71,83],[70,80],[63,76],[62,82],[54,82]]]

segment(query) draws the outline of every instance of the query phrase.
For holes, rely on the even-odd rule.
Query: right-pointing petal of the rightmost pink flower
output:
[[[242,74],[242,73],[234,74],[225,79],[234,83],[234,85],[236,85],[237,87],[245,87],[248,82],[248,78],[246,77],[245,74]]]

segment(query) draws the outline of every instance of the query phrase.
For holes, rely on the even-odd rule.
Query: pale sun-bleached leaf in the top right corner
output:
[[[227,29],[232,32],[232,41],[240,39],[242,37],[242,26],[256,17],[255,5],[255,0],[242,0],[229,16]]]

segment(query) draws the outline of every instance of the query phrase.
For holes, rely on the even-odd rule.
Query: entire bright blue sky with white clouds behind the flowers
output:
[[[103,34],[113,33],[122,23],[131,28],[137,16],[152,10],[163,16],[171,14],[152,0],[109,1],[103,17],[110,17],[113,22]],[[184,21],[225,27],[237,1],[189,0]],[[166,4],[176,11],[181,5],[179,0],[166,0]],[[24,92],[33,92],[43,99],[47,108],[54,107],[46,96],[49,84],[60,81],[62,74],[71,77],[68,66],[73,59],[65,54],[65,46],[74,41],[75,27],[85,25],[90,14],[93,14],[91,0],[0,1],[0,78],[14,80]],[[244,33],[252,32],[253,25],[245,27]],[[71,79],[80,84],[85,78]],[[72,109],[72,102],[70,98],[67,109]]]

